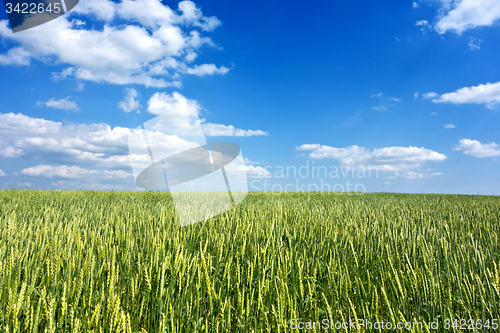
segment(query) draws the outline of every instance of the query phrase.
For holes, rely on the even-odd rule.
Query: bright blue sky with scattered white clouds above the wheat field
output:
[[[250,191],[498,195],[499,55],[498,0],[81,0],[15,34],[2,3],[0,186],[135,190],[168,113]]]

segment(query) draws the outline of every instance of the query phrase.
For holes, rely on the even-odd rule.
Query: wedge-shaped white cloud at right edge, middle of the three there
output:
[[[486,104],[487,108],[493,108],[500,103],[500,82],[461,88],[455,92],[443,94],[432,101],[434,103]]]

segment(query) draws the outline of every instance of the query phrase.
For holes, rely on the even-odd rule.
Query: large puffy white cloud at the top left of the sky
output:
[[[81,24],[71,18],[77,14],[104,25]],[[182,1],[174,11],[159,0],[81,0],[68,15],[32,28],[30,33],[14,34],[8,21],[0,21],[0,36],[20,44],[0,55],[0,64],[28,65],[36,59],[67,64],[61,73],[53,74],[57,79],[74,76],[121,85],[179,87],[181,74],[223,75],[229,70],[215,64],[186,64],[194,61],[196,50],[214,46],[197,29],[212,31],[219,25],[216,17],[203,16],[191,1]]]

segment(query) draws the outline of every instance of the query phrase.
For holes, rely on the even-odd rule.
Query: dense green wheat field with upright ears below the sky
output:
[[[0,330],[486,321],[499,222],[498,197],[285,193],[181,228],[168,193],[0,191]]]

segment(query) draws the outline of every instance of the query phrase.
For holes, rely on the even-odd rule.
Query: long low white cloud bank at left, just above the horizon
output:
[[[0,157],[41,161],[42,167],[27,168],[15,177],[45,174],[53,178],[75,179],[52,183],[52,187],[134,189],[133,177],[125,179],[130,174],[131,162],[150,163],[147,152],[139,153],[142,145],[134,145],[140,140],[132,140],[129,145],[129,137],[134,136],[143,139],[144,133],[125,127],[111,128],[107,124],[62,124],[20,113],[0,113]],[[196,145],[160,131],[148,131],[147,137],[151,139],[153,151],[166,151],[165,142],[169,143],[169,151],[184,151]],[[17,180],[15,177],[9,181]],[[43,186],[45,178],[36,180],[36,184]],[[50,185],[45,183],[45,186]]]

